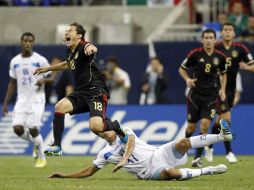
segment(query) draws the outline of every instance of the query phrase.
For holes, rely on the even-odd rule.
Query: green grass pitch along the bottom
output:
[[[93,157],[49,157],[45,168],[34,168],[30,156],[0,156],[0,190],[162,190],[162,189],[254,189],[254,156],[238,156],[239,162],[228,164],[224,156],[216,156],[213,165],[225,163],[228,171],[221,175],[208,175],[188,181],[148,181],[118,171],[112,165],[86,179],[49,179],[53,172],[72,172],[91,163]],[[190,167],[189,163],[184,167]],[[204,161],[207,166],[208,163]],[[210,164],[211,165],[211,164]]]

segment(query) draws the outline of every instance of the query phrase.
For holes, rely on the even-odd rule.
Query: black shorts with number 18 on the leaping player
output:
[[[99,116],[103,119],[106,117],[108,96],[98,88],[73,92],[66,98],[71,101],[73,106],[71,115],[90,112],[90,117]]]

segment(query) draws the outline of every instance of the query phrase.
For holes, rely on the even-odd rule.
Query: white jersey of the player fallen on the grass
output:
[[[128,135],[133,134],[135,136],[135,148],[123,169],[139,178],[149,178],[151,159],[157,148],[139,139],[130,128],[125,128],[124,131]],[[122,160],[125,146],[126,144],[117,138],[112,145],[107,145],[98,153],[93,163],[98,168],[103,168],[108,163],[118,164]]]

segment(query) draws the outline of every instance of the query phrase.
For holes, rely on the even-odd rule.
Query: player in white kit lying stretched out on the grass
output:
[[[113,172],[123,168],[140,179],[187,180],[201,175],[221,174],[227,171],[227,167],[223,164],[200,169],[176,168],[186,164],[186,153],[190,148],[231,141],[233,136],[228,129],[228,123],[221,120],[220,126],[220,134],[184,138],[179,142],[171,141],[159,148],[148,145],[139,139],[130,128],[124,129],[125,138],[128,139],[126,144],[116,136],[114,131],[107,131],[104,132],[104,139],[108,144],[98,153],[91,166],[72,174],[54,173],[50,178],[86,178],[109,163],[116,164]]]

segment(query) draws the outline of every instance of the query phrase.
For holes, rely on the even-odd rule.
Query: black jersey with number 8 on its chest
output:
[[[194,90],[200,94],[216,96],[219,90],[218,71],[226,73],[226,57],[218,50],[208,55],[203,48],[192,50],[181,64],[183,69],[192,68],[197,79]]]

